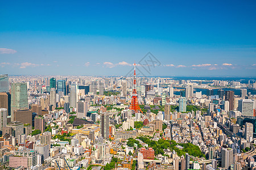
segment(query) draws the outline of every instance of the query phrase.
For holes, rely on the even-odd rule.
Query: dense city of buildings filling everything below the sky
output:
[[[137,77],[134,64],[130,77],[5,74],[0,84],[1,169],[256,167],[254,79]]]

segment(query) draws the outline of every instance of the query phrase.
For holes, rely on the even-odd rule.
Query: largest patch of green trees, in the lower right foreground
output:
[[[200,148],[196,145],[193,145],[192,143],[176,143],[174,140],[164,140],[159,139],[158,141],[153,141],[147,137],[137,137],[142,142],[146,143],[148,147],[152,147],[155,150],[155,155],[162,154],[164,155],[164,149],[169,148],[171,151],[176,151],[178,156],[185,155],[185,153],[188,153],[189,155],[195,156],[195,157],[204,157],[205,155],[201,152]],[[139,143],[139,141],[129,138],[127,142],[127,146],[133,147],[134,143],[137,143],[138,147],[142,147],[142,145]],[[182,150],[177,148],[176,146],[180,145],[184,147]]]

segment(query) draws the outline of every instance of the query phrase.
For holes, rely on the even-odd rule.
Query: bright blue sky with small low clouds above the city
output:
[[[255,1],[3,1],[0,73],[256,76]],[[142,66],[138,66],[139,67]]]

